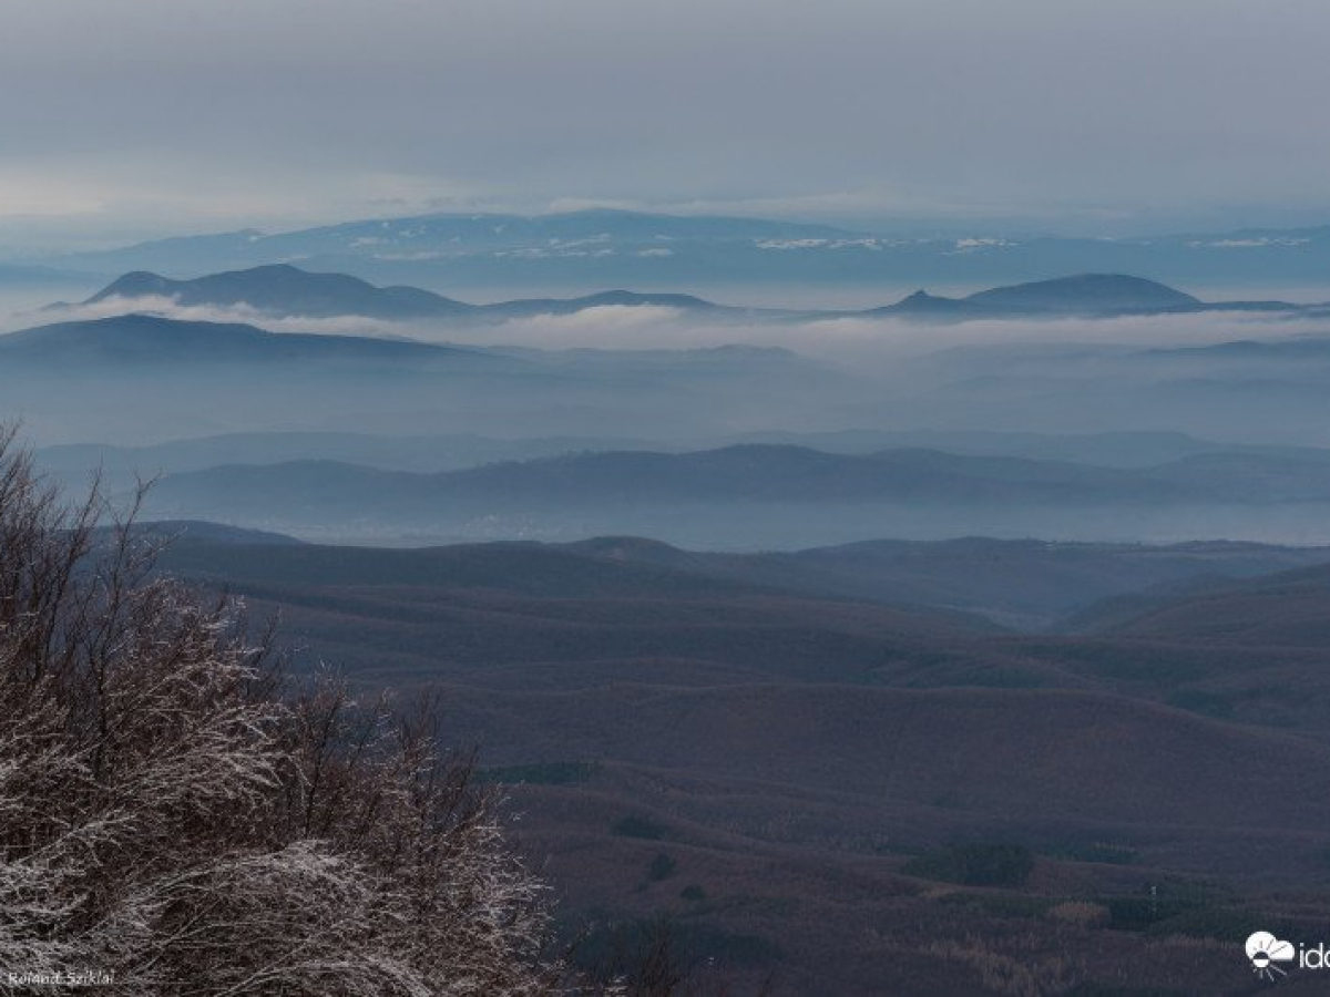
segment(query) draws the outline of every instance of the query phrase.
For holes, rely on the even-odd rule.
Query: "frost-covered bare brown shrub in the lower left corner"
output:
[[[182,997],[551,988],[543,887],[428,711],[283,689],[234,604],[97,508],[0,439],[0,966]]]

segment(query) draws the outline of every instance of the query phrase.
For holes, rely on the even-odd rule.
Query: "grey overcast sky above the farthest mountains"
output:
[[[1327,0],[3,0],[0,241],[1330,222]]]

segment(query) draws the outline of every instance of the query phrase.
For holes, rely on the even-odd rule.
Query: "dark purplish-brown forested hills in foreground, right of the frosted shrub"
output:
[[[1130,552],[1099,553],[1104,576],[1130,574]],[[1204,553],[1185,584],[1208,584]],[[912,576],[926,554],[908,550]],[[664,917],[700,981],[739,992],[1241,993],[1256,927],[1315,936],[1330,709],[1313,697],[1289,722],[1170,702],[1277,686],[1313,666],[1307,641],[1025,637],[829,593],[835,557],[810,552],[801,585],[798,560],[742,576],[641,541],[384,552],[186,533],[166,566],[281,610],[301,666],[440,687],[452,735],[512,783],[588,957]],[[1093,549],[1077,557],[1093,578]],[[1186,553],[1160,557],[1177,572]],[[902,577],[882,565],[879,598]],[[955,605],[947,577],[964,592],[967,570],[928,580]]]

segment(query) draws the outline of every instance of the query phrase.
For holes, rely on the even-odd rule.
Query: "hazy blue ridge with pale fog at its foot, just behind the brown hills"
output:
[[[1220,452],[1104,468],[922,449],[837,455],[741,445],[569,453],[442,473],[301,460],[168,475],[152,495],[157,516],[307,538],[573,538],[614,530],[733,548],[755,532],[783,537],[775,545],[786,549],[871,532],[920,536],[906,533],[918,530],[916,521],[935,524],[922,536],[956,536],[955,524],[992,532],[1003,522],[1017,536],[1047,534],[1055,529],[1052,513],[1065,513],[1079,536],[1103,529],[1096,517],[1119,524],[1120,534],[1124,517],[1144,529],[1160,514],[1184,524],[1174,536],[1197,536],[1205,510],[1238,508],[1252,520],[1260,518],[1256,509],[1286,506],[1307,516],[1330,506],[1325,455]]]

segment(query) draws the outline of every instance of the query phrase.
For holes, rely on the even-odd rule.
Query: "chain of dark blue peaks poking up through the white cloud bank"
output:
[[[1264,310],[1295,311],[1283,302],[1206,303],[1154,280],[1123,274],[1080,274],[1033,283],[995,287],[968,298],[942,298],[919,291],[904,300],[858,312],[774,311],[728,308],[685,294],[604,291],[581,298],[539,298],[468,304],[419,287],[376,287],[347,274],[315,274],[290,265],[210,274],[173,280],[160,274],[125,274],[82,302],[84,306],[118,303],[122,307],[250,310],[261,315],[334,318],[362,316],[384,320],[495,320],[535,315],[569,315],[587,308],[661,307],[712,318],[767,318],[814,320],[829,316],[892,316],[928,322],[964,322],[995,318],[1153,315],[1180,311]],[[64,306],[52,306],[60,308]]]

